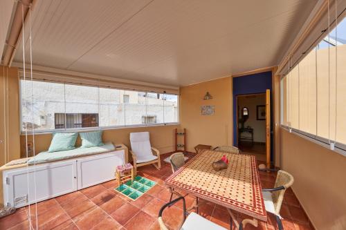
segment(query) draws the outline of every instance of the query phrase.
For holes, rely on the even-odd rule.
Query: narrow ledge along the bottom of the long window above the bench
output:
[[[166,123],[166,124],[152,124],[152,125],[129,125],[129,126],[108,126],[108,127],[95,127],[95,128],[67,128],[64,130],[60,129],[53,129],[49,131],[40,131],[40,130],[35,130],[35,131],[21,131],[21,135],[41,135],[41,134],[48,134],[48,133],[69,133],[69,132],[88,132],[88,131],[98,131],[98,130],[113,130],[113,129],[125,129],[125,128],[151,128],[151,127],[158,127],[158,126],[177,126],[180,125],[179,122],[172,122],[172,123]]]

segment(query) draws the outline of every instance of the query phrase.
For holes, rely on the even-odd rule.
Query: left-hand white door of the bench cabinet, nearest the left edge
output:
[[[76,191],[76,173],[75,161],[4,171],[4,203],[18,208]]]

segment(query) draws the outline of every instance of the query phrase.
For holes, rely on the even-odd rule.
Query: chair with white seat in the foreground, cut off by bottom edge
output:
[[[214,222],[211,222],[210,220],[207,220],[206,218],[201,217],[201,215],[198,215],[197,213],[190,213],[188,215],[186,211],[186,204],[185,204],[185,198],[179,197],[175,200],[163,205],[163,207],[158,212],[158,224],[160,224],[161,230],[168,230],[168,228],[165,226],[165,223],[163,222],[162,214],[165,208],[171,207],[173,204],[178,202],[179,200],[183,200],[183,222],[181,222],[179,229],[181,230],[226,230],[224,227],[221,227]],[[188,218],[186,216],[188,215]]]

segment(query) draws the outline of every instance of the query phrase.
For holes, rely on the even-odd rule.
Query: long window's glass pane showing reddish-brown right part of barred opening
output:
[[[98,126],[98,87],[65,85],[66,128]]]

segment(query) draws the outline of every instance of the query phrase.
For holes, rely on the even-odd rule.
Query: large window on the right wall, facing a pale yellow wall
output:
[[[346,150],[345,63],[346,19],[282,78],[282,124]]]

